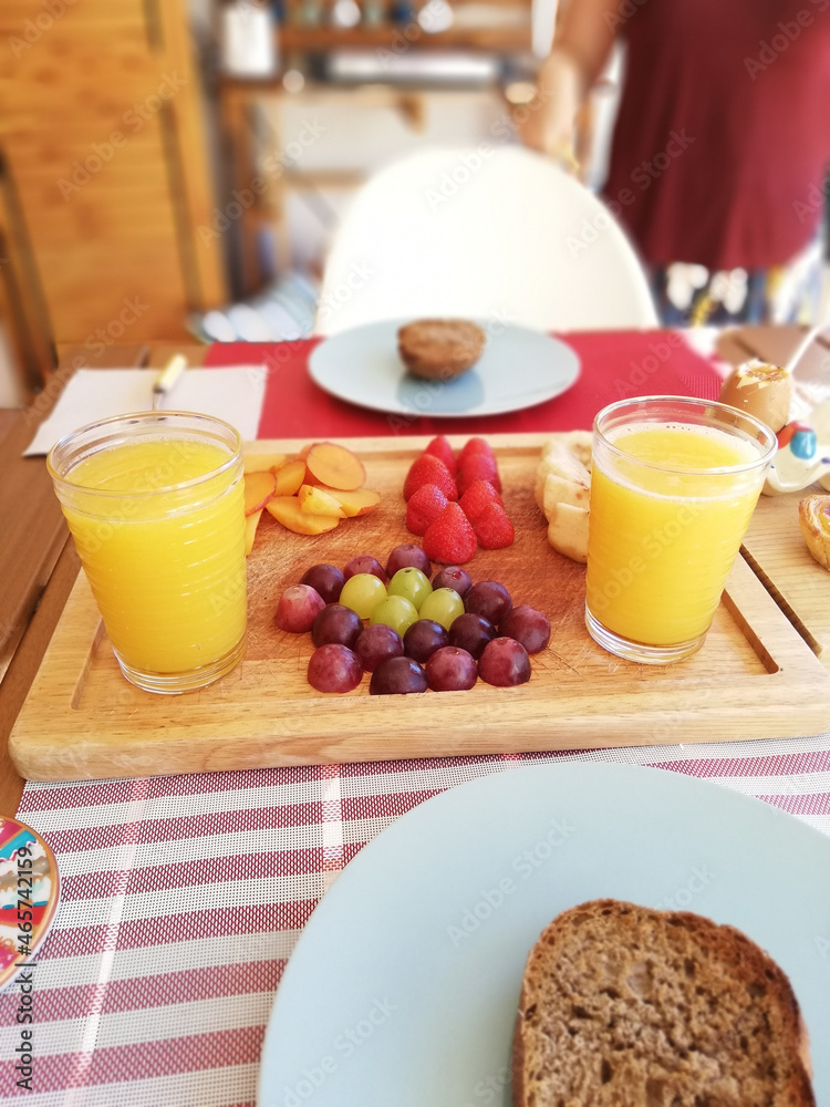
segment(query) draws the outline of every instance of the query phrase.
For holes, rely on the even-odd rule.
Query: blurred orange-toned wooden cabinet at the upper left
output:
[[[3,0],[0,154],[54,343],[186,333],[226,297],[185,0]]]

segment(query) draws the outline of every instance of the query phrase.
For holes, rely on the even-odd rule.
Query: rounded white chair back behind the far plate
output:
[[[656,325],[608,208],[523,147],[430,148],[355,195],[325,265],[315,330],[461,315],[540,330]]]

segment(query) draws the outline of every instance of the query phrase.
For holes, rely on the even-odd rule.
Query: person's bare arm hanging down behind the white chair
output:
[[[577,113],[605,68],[621,22],[621,3],[570,0],[539,70],[536,97],[519,124],[526,145],[553,156],[572,152]]]

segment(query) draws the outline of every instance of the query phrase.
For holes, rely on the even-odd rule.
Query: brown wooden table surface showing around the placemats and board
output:
[[[801,333],[797,328],[732,330],[720,335],[718,352],[734,364],[751,356],[782,364]],[[4,474],[0,482],[4,528],[0,547],[0,814],[14,814],[24,784],[8,757],[8,737],[79,570],[43,458],[23,458],[22,451],[77,364],[158,368],[174,352],[184,352],[191,365],[198,365],[207,348],[162,342],[113,345],[97,360],[80,348],[66,348],[60,351],[59,369],[33,407],[0,412],[0,465]],[[827,382],[828,364],[830,340],[821,340],[808,351],[798,376]]]

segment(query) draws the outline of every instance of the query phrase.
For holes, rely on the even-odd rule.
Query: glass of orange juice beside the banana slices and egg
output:
[[[764,423],[706,400],[644,396],[599,413],[585,594],[595,642],[646,664],[703,645],[776,448]]]

